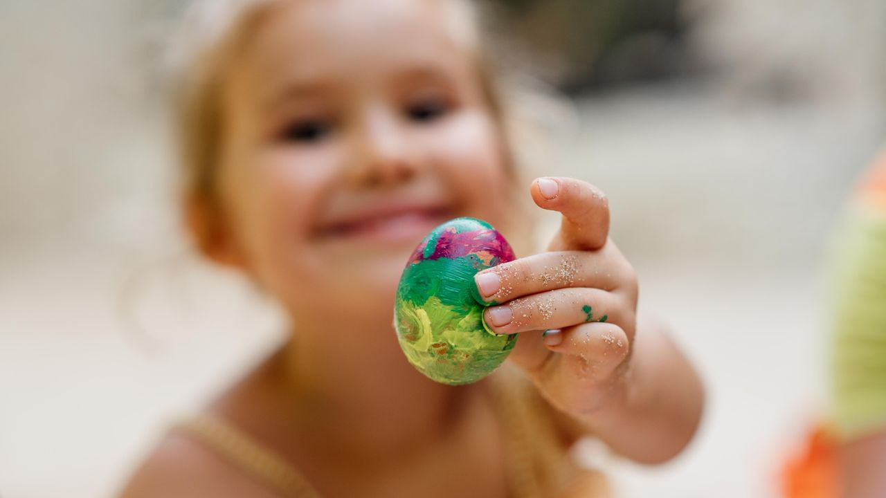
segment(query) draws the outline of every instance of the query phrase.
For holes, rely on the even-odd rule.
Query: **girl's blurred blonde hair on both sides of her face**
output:
[[[225,79],[246,38],[268,12],[268,7],[283,0],[198,0],[185,16],[181,32],[171,52],[173,68],[172,103],[178,156],[182,163],[182,186],[185,202],[194,203],[216,216],[221,205],[215,191],[215,177],[224,140],[222,93]],[[487,105],[501,128],[501,144],[509,176],[514,184],[523,184],[512,147],[512,126],[503,105],[503,89],[497,77],[481,29],[481,8],[470,0],[444,0],[445,21],[455,36],[465,43],[475,58],[478,77]],[[516,189],[511,189],[515,191]],[[523,199],[515,196],[516,206]],[[525,216],[521,216],[525,217]],[[532,223],[524,223],[529,227]],[[190,227],[192,230],[193,226]],[[521,234],[528,240],[529,234]],[[200,237],[199,235],[197,236]],[[198,244],[202,241],[198,240]]]

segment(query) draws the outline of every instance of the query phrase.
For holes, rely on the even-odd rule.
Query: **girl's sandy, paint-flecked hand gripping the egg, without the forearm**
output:
[[[608,239],[609,204],[573,178],[540,178],[532,198],[563,214],[540,253],[478,273],[490,329],[525,332],[511,359],[557,409],[586,418],[623,386],[636,323],[637,279]],[[542,333],[542,331],[546,331]]]

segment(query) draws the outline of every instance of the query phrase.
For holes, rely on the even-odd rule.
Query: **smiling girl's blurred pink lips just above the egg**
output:
[[[353,239],[365,242],[395,242],[408,240],[417,243],[429,231],[452,217],[447,207],[402,207],[320,227],[324,239]]]

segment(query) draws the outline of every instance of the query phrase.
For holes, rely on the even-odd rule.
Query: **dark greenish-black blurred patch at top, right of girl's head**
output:
[[[687,74],[684,0],[494,0],[568,93]]]

